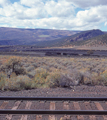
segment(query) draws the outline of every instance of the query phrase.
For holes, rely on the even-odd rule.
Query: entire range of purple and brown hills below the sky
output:
[[[107,32],[99,29],[69,31],[52,29],[0,28],[0,45],[68,47],[107,45]]]

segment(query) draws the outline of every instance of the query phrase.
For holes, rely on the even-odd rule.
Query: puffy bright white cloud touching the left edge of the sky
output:
[[[0,15],[17,19],[36,19],[46,17],[43,7],[25,7],[17,2],[0,8]]]

